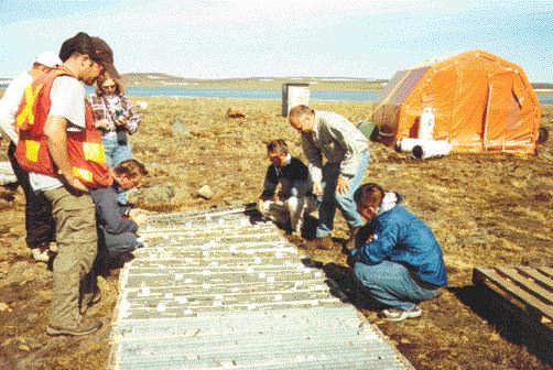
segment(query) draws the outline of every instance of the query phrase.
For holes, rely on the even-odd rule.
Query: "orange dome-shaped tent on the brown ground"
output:
[[[522,68],[481,50],[397,72],[376,104],[382,142],[416,138],[424,108],[454,151],[535,153],[542,108]]]

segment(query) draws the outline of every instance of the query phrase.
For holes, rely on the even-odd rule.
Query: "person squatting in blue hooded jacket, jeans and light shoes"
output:
[[[442,249],[431,229],[399,205],[397,193],[377,184],[361,185],[355,193],[357,211],[367,219],[350,252],[358,292],[388,306],[389,320],[419,317],[420,301],[440,295],[447,284]]]

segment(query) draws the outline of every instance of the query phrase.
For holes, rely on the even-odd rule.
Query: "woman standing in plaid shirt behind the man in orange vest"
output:
[[[128,134],[138,130],[140,115],[123,94],[121,80],[108,74],[97,81],[96,94],[90,95],[96,128],[102,132],[101,142],[106,162],[110,168],[132,157]],[[127,204],[127,194],[122,193],[118,202]]]

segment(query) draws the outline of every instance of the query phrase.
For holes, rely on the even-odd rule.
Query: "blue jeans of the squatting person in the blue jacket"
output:
[[[373,265],[357,262],[354,274],[358,294],[369,294],[378,303],[403,311],[410,311],[420,301],[432,300],[440,293],[440,289],[420,286],[408,268],[391,261]]]

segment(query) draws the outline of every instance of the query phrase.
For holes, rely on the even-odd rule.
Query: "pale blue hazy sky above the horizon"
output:
[[[482,48],[553,83],[553,2],[541,0],[4,0],[0,77],[77,32],[119,73],[187,78],[391,78]]]

